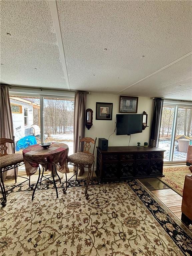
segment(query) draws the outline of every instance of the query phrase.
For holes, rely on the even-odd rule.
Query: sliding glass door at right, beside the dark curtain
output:
[[[163,105],[159,147],[165,149],[164,161],[186,162],[187,148],[192,142],[192,106]]]

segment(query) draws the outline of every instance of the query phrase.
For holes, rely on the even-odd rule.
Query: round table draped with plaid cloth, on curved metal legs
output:
[[[38,183],[42,183],[44,180],[49,179],[44,176],[45,171],[50,171],[52,176],[52,180],[49,179],[50,182],[54,184],[56,195],[58,198],[58,191],[55,182],[55,177],[59,178],[61,183],[61,179],[57,173],[57,171],[61,173],[65,173],[66,178],[66,187],[63,188],[63,193],[67,190],[67,173],[69,173],[69,168],[67,164],[69,147],[67,144],[60,142],[52,142],[49,148],[42,148],[40,144],[35,144],[29,146],[23,150],[23,160],[25,164],[25,171],[27,176],[31,176],[39,170],[39,176],[36,182],[36,185],[33,189],[32,200],[34,199],[34,194],[37,189]],[[41,167],[42,168],[41,168]],[[44,178],[44,179],[43,179]]]

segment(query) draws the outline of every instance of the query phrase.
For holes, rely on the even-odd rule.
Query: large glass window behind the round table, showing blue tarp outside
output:
[[[9,95],[16,153],[34,136],[34,143],[66,143],[73,154],[74,93],[13,88]]]

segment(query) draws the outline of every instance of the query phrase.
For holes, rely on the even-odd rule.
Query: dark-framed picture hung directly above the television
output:
[[[119,112],[120,113],[137,113],[138,97],[120,96]]]

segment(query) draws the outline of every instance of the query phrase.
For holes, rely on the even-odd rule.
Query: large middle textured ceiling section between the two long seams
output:
[[[57,8],[71,88],[117,93],[192,50],[190,1],[57,1]]]

